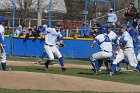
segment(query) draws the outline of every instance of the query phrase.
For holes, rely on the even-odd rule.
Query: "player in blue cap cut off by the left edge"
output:
[[[5,29],[4,29],[4,24],[5,22],[5,17],[0,16],[0,56],[1,56],[1,66],[2,66],[2,70],[6,71],[6,54],[4,51],[4,33],[5,33]]]

